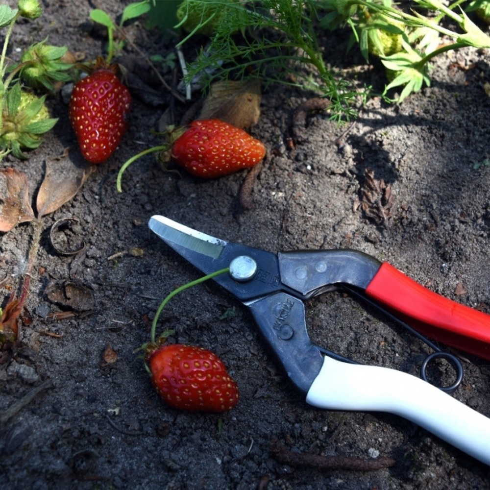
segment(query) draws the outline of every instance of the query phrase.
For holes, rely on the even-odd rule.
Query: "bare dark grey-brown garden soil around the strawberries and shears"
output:
[[[104,37],[91,25],[90,10],[102,8],[115,17],[127,3],[45,0],[40,19],[15,27],[10,55],[15,58],[19,48],[49,35],[51,44],[67,45],[94,59],[102,52]],[[147,55],[172,51],[172,40],[147,31],[140,22],[127,34]],[[339,62],[344,48],[343,39],[326,40],[325,49],[337,53]],[[187,49],[188,56],[193,49]],[[131,46],[126,51],[139,56]],[[163,111],[172,104],[179,118],[187,109],[162,89],[156,105],[134,91],[130,128],[116,154],[96,168],[72,201],[43,219],[26,303],[33,321],[22,326],[16,348],[1,356],[0,414],[8,414],[16,402],[36,393],[36,387],[45,389],[2,418],[0,488],[488,488],[488,466],[411,422],[307,405],[277,367],[245,308],[214,284],[174,298],[163,319],[176,330],[175,341],[221,355],[240,387],[235,409],[217,415],[165,406],[135,348],[148,340],[146,319],[153,317],[161,299],[200,275],[148,231],[153,214],[274,252],[356,248],[389,261],[437,293],[489,312],[490,167],[484,165],[489,151],[490,98],[484,91],[490,81],[489,59],[487,50],[476,49],[441,56],[434,63],[431,88],[400,106],[371,99],[345,135],[345,127],[330,122],[328,114],[310,114],[301,128],[303,141],[293,145],[294,111],[314,95],[283,87],[266,91],[252,133],[268,154],[253,187],[254,208],[245,212],[238,196],[246,172],[204,181],[162,172],[152,156],[130,167],[123,177],[124,192],[117,194],[118,169],[158,142],[150,130]],[[353,54],[343,60],[348,63],[343,68],[360,62]],[[382,90],[380,66],[364,66],[359,73]],[[164,74],[172,84],[172,73]],[[4,167],[28,175],[34,196],[47,159],[72,147],[71,158],[81,160],[66,102],[58,95],[49,105],[60,121],[45,144],[28,161],[3,161]],[[475,164],[481,165],[475,169]],[[379,194],[363,210],[367,169],[391,188],[394,201],[388,208]],[[78,221],[72,234],[61,236],[71,245],[84,240],[88,247],[81,256],[62,256],[49,244],[50,227],[63,218]],[[24,271],[31,235],[32,226],[21,224],[0,237],[2,274],[12,275],[2,290],[5,300]],[[143,254],[128,253],[132,247]],[[119,256],[110,259],[114,254]],[[95,307],[69,319],[49,317],[60,311],[46,295],[53,280],[90,288]],[[233,307],[233,318],[220,319]],[[417,375],[428,352],[341,293],[311,300],[307,315],[316,343],[359,361]],[[115,363],[103,360],[107,345],[117,353]],[[453,396],[490,417],[489,363],[465,357],[464,383]],[[272,457],[272,439],[300,453],[379,455],[394,458],[396,464],[372,472],[296,468]]]

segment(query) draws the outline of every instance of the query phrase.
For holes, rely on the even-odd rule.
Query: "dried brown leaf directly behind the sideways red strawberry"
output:
[[[248,129],[259,120],[261,98],[259,80],[217,82],[204,101],[199,119],[219,119]]]

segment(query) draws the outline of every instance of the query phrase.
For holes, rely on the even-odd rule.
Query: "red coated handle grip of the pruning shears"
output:
[[[423,335],[490,360],[490,315],[429,291],[387,262],[366,293]]]

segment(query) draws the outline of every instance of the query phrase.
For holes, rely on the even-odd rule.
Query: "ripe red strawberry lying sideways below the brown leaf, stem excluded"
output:
[[[265,154],[262,142],[218,119],[192,122],[172,146],[175,161],[193,175],[204,178],[252,167]]]

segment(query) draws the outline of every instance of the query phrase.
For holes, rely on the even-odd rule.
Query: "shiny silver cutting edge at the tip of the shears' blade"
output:
[[[152,216],[148,222],[148,227],[169,245],[181,245],[213,259],[217,259],[221,255],[223,248],[228,243],[169,220],[165,216]]]

